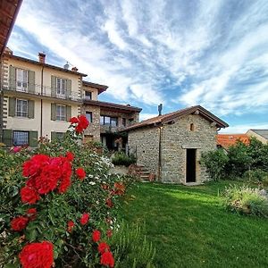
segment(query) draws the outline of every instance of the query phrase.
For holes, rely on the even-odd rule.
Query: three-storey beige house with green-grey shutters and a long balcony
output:
[[[82,77],[72,70],[13,55],[6,49],[2,65],[2,133],[7,146],[36,146],[39,137],[59,138],[71,116],[80,114]]]

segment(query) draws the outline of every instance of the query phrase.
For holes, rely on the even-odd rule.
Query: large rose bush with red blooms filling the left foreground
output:
[[[62,141],[1,149],[0,242],[8,267],[115,264],[109,240],[130,178],[109,174],[109,159],[80,145],[87,127],[81,115]]]

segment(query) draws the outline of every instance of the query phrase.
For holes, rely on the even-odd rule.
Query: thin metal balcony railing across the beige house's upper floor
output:
[[[41,87],[37,84],[30,84],[20,81],[13,81],[8,86],[3,86],[2,88],[4,90],[29,93],[37,96],[50,96],[79,102],[82,100],[78,92],[73,92],[67,89],[60,90],[59,88],[51,88],[46,86]]]

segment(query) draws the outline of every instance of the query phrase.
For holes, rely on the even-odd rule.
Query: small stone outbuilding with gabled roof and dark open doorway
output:
[[[126,131],[138,164],[160,181],[188,184],[209,180],[200,157],[216,149],[217,130],[226,127],[226,122],[197,105],[141,121]]]

